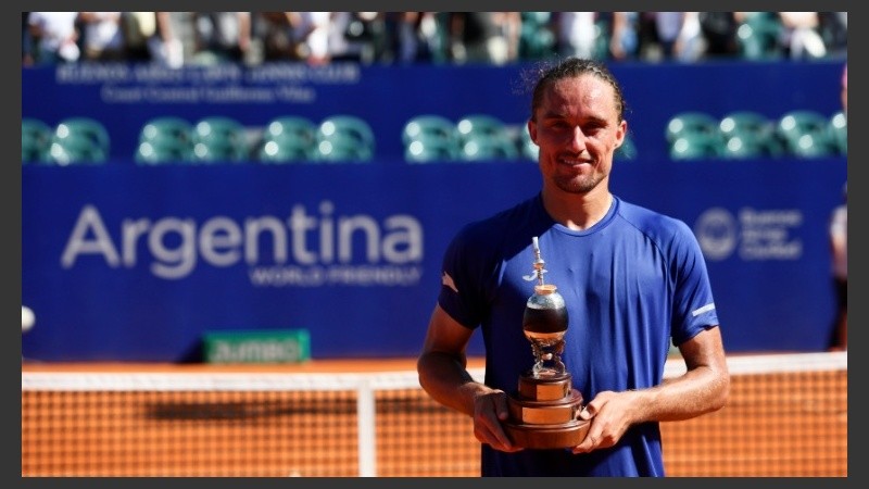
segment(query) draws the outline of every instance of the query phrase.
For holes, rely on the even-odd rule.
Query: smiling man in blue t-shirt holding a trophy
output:
[[[625,140],[625,101],[605,65],[567,59],[533,87],[528,130],[540,148],[539,195],[464,227],[443,259],[443,287],[417,369],[438,402],[474,418],[483,476],[664,476],[663,421],[725,405],[729,374],[706,265],[682,222],[608,190]],[[507,396],[533,363],[521,321],[532,239],[569,327],[562,360],[590,427],[566,449],[522,449],[502,423]],[[484,384],[466,371],[481,326]],[[670,341],[687,373],[663,380]]]

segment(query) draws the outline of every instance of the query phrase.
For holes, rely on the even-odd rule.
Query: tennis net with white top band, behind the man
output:
[[[668,361],[665,375],[681,363]],[[846,352],[728,363],[722,410],[662,424],[668,475],[847,476]],[[411,371],[23,366],[23,477],[477,475],[470,418],[432,401]]]

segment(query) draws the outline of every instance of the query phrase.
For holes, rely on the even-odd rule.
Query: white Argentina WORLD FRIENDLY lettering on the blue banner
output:
[[[423,225],[408,214],[378,221],[340,215],[329,201],[311,213],[295,204],[289,216],[176,216],[106,223],[85,205],[66,240],[61,265],[96,258],[112,268],[148,266],[167,280],[197,267],[247,265],[256,287],[415,286],[423,275]]]

